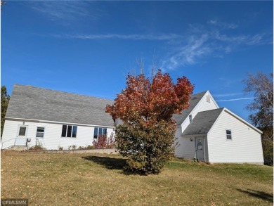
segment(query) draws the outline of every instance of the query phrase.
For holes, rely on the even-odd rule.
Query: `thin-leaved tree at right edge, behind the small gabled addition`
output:
[[[254,102],[247,106],[249,120],[263,131],[263,158],[266,165],[273,165],[273,73],[269,76],[258,72],[244,79],[247,93],[254,94]]]

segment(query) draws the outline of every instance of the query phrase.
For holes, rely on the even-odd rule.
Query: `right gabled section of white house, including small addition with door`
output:
[[[176,157],[263,165],[262,132],[227,108],[219,108],[209,91],[191,96],[190,107],[174,119]]]

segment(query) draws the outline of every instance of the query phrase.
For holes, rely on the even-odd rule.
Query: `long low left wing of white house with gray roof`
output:
[[[1,148],[34,146],[48,150],[92,145],[110,136],[114,121],[105,105],[114,101],[15,84],[6,112]]]

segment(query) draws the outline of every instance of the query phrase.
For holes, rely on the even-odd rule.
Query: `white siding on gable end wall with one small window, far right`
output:
[[[228,128],[233,141],[227,141]],[[207,141],[209,162],[263,163],[261,134],[226,110],[211,127]]]

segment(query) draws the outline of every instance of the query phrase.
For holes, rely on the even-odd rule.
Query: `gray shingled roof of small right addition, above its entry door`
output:
[[[193,122],[186,127],[182,135],[207,134],[222,111],[223,108],[218,108],[215,110],[198,112],[194,117]]]

